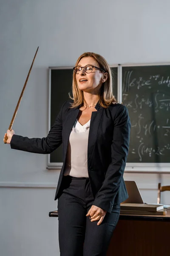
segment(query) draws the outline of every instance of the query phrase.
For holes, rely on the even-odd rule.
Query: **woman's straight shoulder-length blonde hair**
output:
[[[105,72],[108,73],[108,79],[102,84],[98,91],[99,96],[99,104],[103,108],[108,108],[111,104],[116,104],[117,101],[115,97],[113,96],[113,85],[112,85],[112,73],[111,68],[109,67],[107,61],[105,58],[103,58],[101,55],[94,53],[94,52],[85,52],[81,56],[79,56],[76,66],[79,64],[79,61],[84,57],[92,57],[94,60],[97,61],[99,64],[99,67]],[[76,81],[76,73],[73,71],[73,84],[72,84],[72,94],[73,97],[71,97],[69,93],[70,99],[72,99],[74,102],[71,103],[71,108],[76,108],[79,105],[82,105],[83,103],[83,91],[79,89]]]

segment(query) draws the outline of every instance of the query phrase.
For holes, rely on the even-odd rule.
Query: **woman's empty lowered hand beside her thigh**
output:
[[[96,205],[92,205],[86,216],[90,216],[89,218],[91,219],[91,221],[99,220],[97,222],[97,225],[100,225],[105,218],[106,212],[107,211],[103,210],[102,208],[97,207]]]

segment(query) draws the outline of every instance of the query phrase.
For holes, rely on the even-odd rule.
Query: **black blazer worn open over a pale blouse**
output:
[[[63,166],[55,200],[59,197],[68,140],[79,108],[71,109],[70,103],[65,102],[47,137],[29,139],[13,135],[11,139],[11,148],[39,154],[50,154],[63,143]],[[94,205],[111,212],[114,202],[121,203],[128,198],[123,173],[129,148],[130,119],[127,108],[121,104],[102,108],[98,102],[95,108],[88,137],[88,174]]]

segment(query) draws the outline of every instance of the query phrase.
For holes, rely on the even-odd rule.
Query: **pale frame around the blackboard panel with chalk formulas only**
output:
[[[146,66],[170,66],[169,62],[161,63],[141,63],[141,64],[120,64],[119,76],[121,77],[120,86],[122,88],[122,68],[123,67],[146,67]],[[120,95],[122,101],[122,93]],[[125,172],[140,172],[140,173],[170,173],[170,163],[126,163]]]

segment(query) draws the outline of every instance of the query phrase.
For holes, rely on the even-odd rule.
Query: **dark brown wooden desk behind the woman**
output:
[[[49,216],[57,217],[57,211]],[[170,209],[165,216],[120,215],[107,256],[162,255],[170,255]]]

